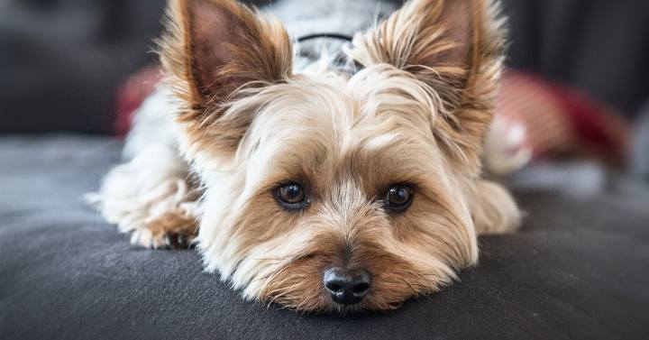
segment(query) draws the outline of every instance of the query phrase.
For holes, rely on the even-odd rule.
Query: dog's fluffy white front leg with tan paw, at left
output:
[[[131,233],[133,244],[178,248],[187,247],[197,233],[197,197],[177,152],[151,144],[111,170],[91,200],[108,222]]]

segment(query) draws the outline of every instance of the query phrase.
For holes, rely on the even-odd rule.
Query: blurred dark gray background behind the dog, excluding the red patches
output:
[[[151,39],[160,32],[164,5],[0,2],[0,133],[112,133],[115,90],[155,61]],[[512,32],[510,66],[580,87],[628,117],[649,97],[649,1],[504,5]]]

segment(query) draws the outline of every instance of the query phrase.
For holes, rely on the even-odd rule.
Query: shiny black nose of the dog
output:
[[[371,274],[364,269],[333,267],[324,271],[323,283],[335,303],[353,305],[361,302],[370,290]]]

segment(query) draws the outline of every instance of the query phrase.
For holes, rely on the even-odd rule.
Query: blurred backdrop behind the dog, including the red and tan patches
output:
[[[0,0],[0,133],[123,134],[158,77],[151,40],[164,6]],[[525,126],[535,161],[585,158],[649,178],[649,1],[504,8],[511,46],[500,121]]]

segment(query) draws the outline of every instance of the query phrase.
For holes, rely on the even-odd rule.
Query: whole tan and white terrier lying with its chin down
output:
[[[96,195],[103,216],[133,244],[196,245],[244,299],[299,311],[389,310],[451,284],[479,234],[521,222],[482,166],[506,21],[494,0],[391,7],[285,0],[281,23],[171,1],[165,80]],[[295,41],[314,32],[353,38]]]

